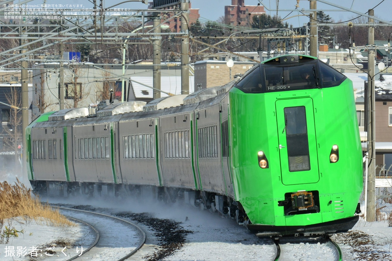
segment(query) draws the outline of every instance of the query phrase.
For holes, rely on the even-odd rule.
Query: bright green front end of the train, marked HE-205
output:
[[[351,229],[363,186],[352,82],[311,56],[280,56],[230,90],[235,197],[260,236]]]

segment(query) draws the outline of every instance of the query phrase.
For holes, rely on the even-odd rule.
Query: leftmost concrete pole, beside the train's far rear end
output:
[[[20,45],[25,44],[25,35],[24,30],[22,30]],[[26,52],[27,47],[23,47],[20,52],[24,54]],[[23,56],[23,60],[21,62],[22,69],[20,72],[20,83],[22,86],[22,175],[25,173],[24,163],[27,162],[26,157],[26,127],[29,125],[29,79],[28,79],[28,71],[27,71],[27,60],[26,57]],[[16,131],[16,130],[15,130]],[[15,140],[16,142],[16,140]]]

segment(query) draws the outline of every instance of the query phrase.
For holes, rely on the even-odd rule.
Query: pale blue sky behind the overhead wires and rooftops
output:
[[[18,1],[22,0],[16,0],[14,3],[16,4]],[[114,5],[116,3],[123,2],[124,0],[104,0],[104,5],[106,7]],[[149,0],[146,0],[148,2]],[[150,0],[151,1],[151,0]],[[352,9],[355,11],[358,11],[360,13],[366,13],[368,9],[374,8],[376,5],[377,7],[374,8],[374,14],[380,19],[384,19],[387,21],[392,20],[390,18],[391,16],[391,0],[376,0],[376,1],[370,1],[370,0],[321,0],[323,2],[329,2],[329,3],[334,3],[338,4],[342,7]],[[30,2],[29,4],[42,4],[44,0],[34,0]],[[62,0],[46,0],[47,4],[83,4],[85,7],[92,7],[92,0],[67,0],[67,1],[62,1]],[[99,0],[97,0],[99,3]],[[276,15],[276,6],[277,3],[278,5],[278,10],[293,10],[292,13],[290,11],[279,11],[278,15],[283,18],[289,14],[287,22],[289,24],[292,24],[294,27],[300,27],[303,25],[303,23],[309,22],[309,18],[305,16],[297,16],[298,14],[301,14],[298,10],[295,10],[295,5],[296,5],[296,0],[245,0],[245,5],[257,5],[258,3],[261,3],[261,5],[265,6],[265,9],[269,9],[270,11],[266,10],[267,14],[270,14],[272,16]],[[212,20],[215,21],[221,16],[224,15],[224,7],[225,5],[231,5],[231,0],[191,0],[192,3],[192,8],[197,8],[199,9],[200,16],[204,18],[203,20]],[[381,4],[380,4],[381,3]],[[127,4],[123,4],[121,6],[126,6],[127,8],[132,8],[132,9],[147,9],[146,4],[138,3],[138,2],[129,2]],[[308,0],[299,0],[299,10],[300,9],[309,9],[309,1]],[[317,2],[317,9],[323,10],[324,13],[328,14],[331,18],[334,19],[335,22],[338,21],[346,21],[349,20],[350,18],[357,17],[358,14],[343,11],[343,12],[338,12],[338,11],[330,11],[331,9],[334,10],[339,10],[337,7],[331,6],[324,4],[322,2]],[[367,19],[367,18],[366,18]]]

